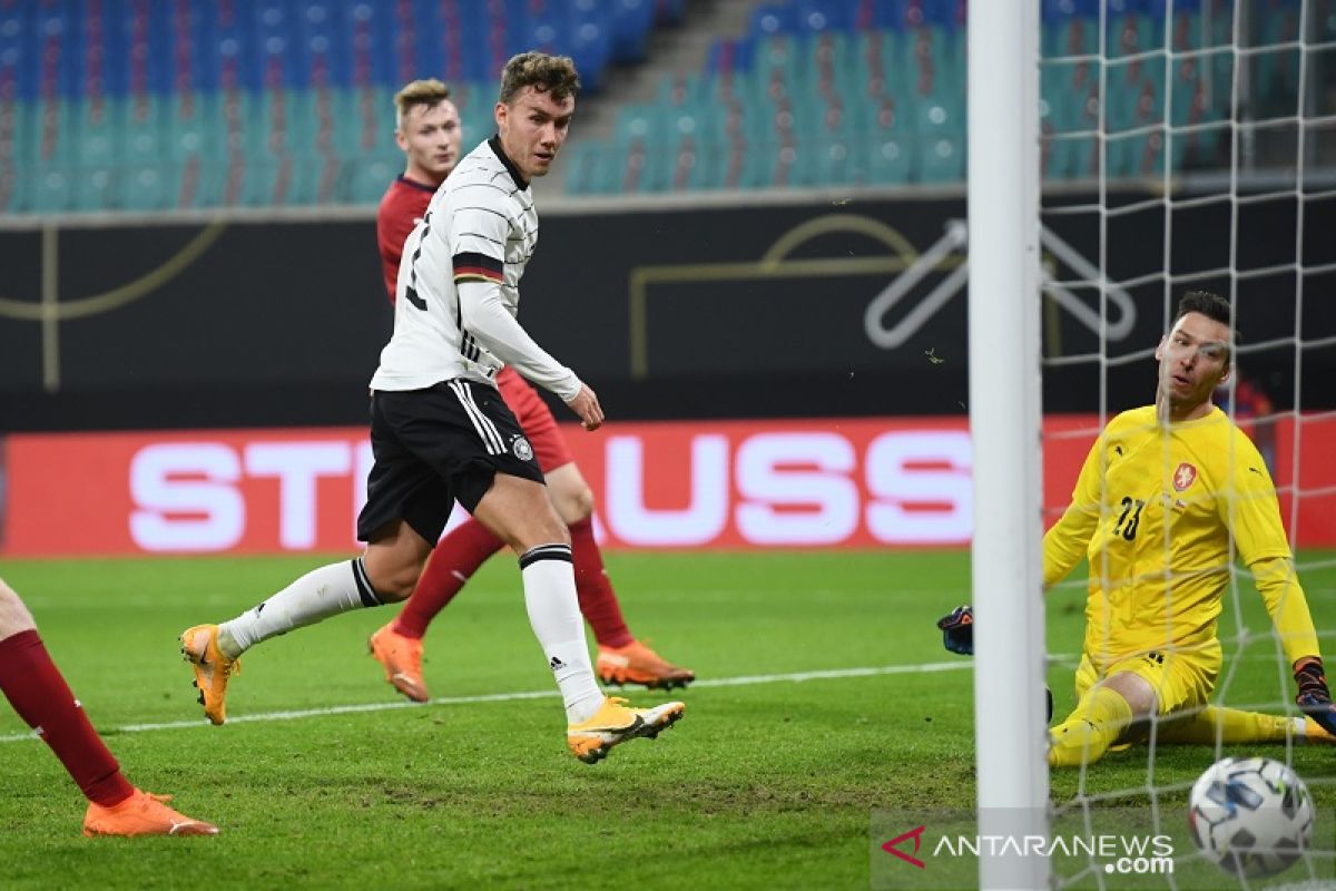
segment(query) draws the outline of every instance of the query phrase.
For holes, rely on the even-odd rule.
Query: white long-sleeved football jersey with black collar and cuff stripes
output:
[[[373,390],[421,390],[468,378],[494,385],[502,366],[565,401],[574,373],[520,323],[520,278],[538,243],[533,190],[493,136],[460,160],[403,243],[394,334]]]

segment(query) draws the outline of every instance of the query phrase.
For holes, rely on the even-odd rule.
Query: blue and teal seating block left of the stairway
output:
[[[596,92],[683,0],[0,0],[0,212],[370,203],[403,164],[394,91],[490,127],[529,48]]]

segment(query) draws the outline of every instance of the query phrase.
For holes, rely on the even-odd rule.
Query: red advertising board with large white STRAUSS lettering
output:
[[[1088,417],[1045,423],[1049,522],[1097,425]],[[612,548],[970,540],[963,417],[613,423],[595,434],[570,426],[566,437]],[[1336,545],[1336,464],[1321,460],[1336,449],[1336,418],[1283,418],[1259,437],[1272,438],[1296,544]],[[350,552],[370,462],[362,427],[11,435],[0,553]]]

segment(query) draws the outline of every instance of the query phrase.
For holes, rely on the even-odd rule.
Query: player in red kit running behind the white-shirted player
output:
[[[461,156],[460,112],[450,90],[440,80],[414,80],[394,96],[394,139],[407,166],[386,190],[375,215],[385,290],[394,301],[403,242],[422,218],[432,195]],[[593,536],[593,493],[580,474],[556,418],[537,391],[517,371],[497,375],[501,397],[533,445],[548,482],[548,496],[570,529],[580,612],[599,643],[596,671],[605,684],[644,684],[649,688],[685,687],[696,679],[689,669],[664,661],[636,640],[621,614],[617,594],[604,572]],[[422,636],[428,625],[468,582],[502,541],[477,520],[452,530],[432,553],[417,589],[403,612],[370,639],[371,655],[385,667],[386,680],[409,699],[430,696],[422,679]]]

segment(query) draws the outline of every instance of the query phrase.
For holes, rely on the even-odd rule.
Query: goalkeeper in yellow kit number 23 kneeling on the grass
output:
[[[1097,761],[1158,721],[1160,743],[1336,741],[1317,633],[1295,574],[1276,489],[1256,446],[1212,403],[1230,370],[1230,305],[1178,303],[1156,349],[1154,405],[1113,418],[1090,449],[1071,504],[1043,537],[1043,582],[1088,557],[1077,707],[1051,729],[1049,764]],[[1307,717],[1208,704],[1220,676],[1220,617],[1233,552],[1252,570]],[[945,617],[947,649],[973,652],[973,616]]]

